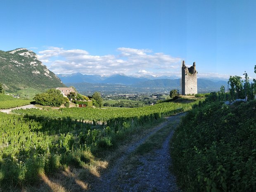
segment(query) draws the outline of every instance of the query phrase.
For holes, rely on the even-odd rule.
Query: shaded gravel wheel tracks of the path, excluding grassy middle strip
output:
[[[169,153],[169,141],[173,131],[168,135],[161,149],[146,154],[138,159],[138,166],[125,173],[122,170],[128,156],[147,140],[151,135],[168,124],[177,126],[180,117],[184,114],[167,117],[167,121],[157,126],[151,133],[140,141],[128,146],[123,155],[115,161],[114,166],[104,173],[96,183],[92,184],[91,192],[178,192],[175,177],[169,172],[171,157]],[[130,175],[126,177],[126,175]]]

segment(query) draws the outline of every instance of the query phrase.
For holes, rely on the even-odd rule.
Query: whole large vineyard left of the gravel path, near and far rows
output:
[[[114,149],[128,135],[163,121],[164,115],[187,111],[193,104],[0,113],[0,186],[30,185],[40,173],[49,175],[65,166],[90,164],[98,152]]]

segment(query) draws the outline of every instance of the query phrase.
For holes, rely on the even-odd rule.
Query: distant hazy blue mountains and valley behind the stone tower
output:
[[[99,91],[106,94],[122,93],[154,93],[170,92],[172,89],[181,90],[181,79],[177,76],[126,76],[117,74],[112,76],[70,75],[58,74],[59,78],[68,86],[74,86],[79,92],[90,94]],[[228,88],[228,79],[225,78],[198,78],[198,92],[219,91],[220,86]]]

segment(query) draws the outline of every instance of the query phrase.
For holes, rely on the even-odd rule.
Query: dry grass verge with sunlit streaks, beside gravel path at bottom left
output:
[[[90,163],[82,163],[81,168],[63,166],[54,174],[38,175],[38,185],[0,186],[0,192],[70,192],[87,191],[89,183],[100,177],[100,170],[108,167],[107,161],[95,158],[90,152],[88,158]]]

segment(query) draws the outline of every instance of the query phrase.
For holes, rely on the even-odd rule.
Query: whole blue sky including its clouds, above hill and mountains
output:
[[[2,0],[0,50],[55,73],[256,77],[254,0]]]

